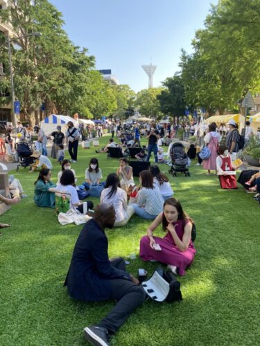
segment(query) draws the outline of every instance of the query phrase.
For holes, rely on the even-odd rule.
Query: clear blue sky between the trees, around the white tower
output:
[[[51,0],[71,41],[89,49],[97,69],[112,69],[121,84],[148,87],[141,65],[157,65],[153,85],[178,71],[180,49],[191,40],[217,0]]]

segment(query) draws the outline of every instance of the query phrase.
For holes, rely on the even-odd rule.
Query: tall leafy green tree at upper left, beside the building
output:
[[[42,34],[19,38],[21,48],[12,49],[15,95],[33,125],[35,110],[45,99],[55,100],[64,109],[75,102],[82,92],[80,78],[87,66],[94,66],[94,58],[71,44],[62,29],[62,14],[49,1],[10,0],[9,5],[1,10],[0,20],[9,21],[17,36]]]

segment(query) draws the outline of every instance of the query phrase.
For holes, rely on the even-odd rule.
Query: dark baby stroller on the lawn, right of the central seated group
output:
[[[182,172],[185,176],[190,176],[188,168],[188,156],[182,143],[173,143],[171,147],[171,170],[168,172],[177,176],[177,172]]]

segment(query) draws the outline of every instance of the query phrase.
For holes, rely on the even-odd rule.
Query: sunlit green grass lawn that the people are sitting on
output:
[[[105,136],[101,144],[107,143]],[[68,156],[68,154],[67,154]],[[89,159],[98,157],[105,178],[116,159],[79,149],[78,183]],[[163,165],[163,171],[168,166]],[[54,163],[53,181],[60,165]],[[170,178],[175,197],[196,222],[197,254],[180,277],[184,300],[145,302],[121,327],[112,345],[257,345],[260,340],[260,206],[239,190],[221,190],[216,176],[202,167],[191,177]],[[85,345],[83,328],[98,322],[114,302],[85,303],[69,298],[63,282],[82,226],[60,226],[54,210],[33,203],[37,173],[12,172],[28,198],[1,216],[12,224],[0,237],[0,345]],[[98,203],[97,199],[92,199]],[[139,253],[139,239],[150,221],[132,217],[128,225],[107,231],[110,257]],[[257,226],[258,225],[258,226]],[[163,235],[162,230],[157,235]],[[130,260],[130,273],[148,273],[158,264]]]

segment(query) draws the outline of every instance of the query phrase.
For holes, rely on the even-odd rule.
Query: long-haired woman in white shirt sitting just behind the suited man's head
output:
[[[130,217],[135,214],[135,209],[128,206],[126,192],[120,188],[119,176],[111,173],[105,181],[105,189],[101,192],[101,203],[108,203],[116,210],[116,222],[114,227],[121,227],[128,223]]]

